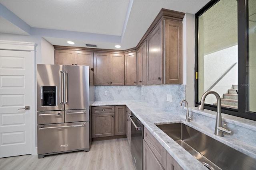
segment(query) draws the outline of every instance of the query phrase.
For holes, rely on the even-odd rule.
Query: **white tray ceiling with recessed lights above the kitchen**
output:
[[[161,8],[195,14],[210,0],[0,0],[0,33],[52,45],[136,47]],[[66,41],[74,41],[69,45]]]

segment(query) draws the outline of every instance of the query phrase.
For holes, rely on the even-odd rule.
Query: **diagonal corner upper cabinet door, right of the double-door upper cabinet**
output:
[[[124,85],[137,85],[137,53],[124,55]]]

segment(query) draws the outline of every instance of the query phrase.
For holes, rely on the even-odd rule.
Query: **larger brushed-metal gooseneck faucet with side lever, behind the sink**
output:
[[[217,136],[224,136],[224,133],[228,133],[230,135],[233,135],[233,131],[229,131],[227,128],[222,127],[222,118],[221,118],[221,99],[220,99],[220,95],[218,95],[218,93],[214,92],[214,91],[208,91],[205,92],[202,95],[201,101],[199,102],[198,105],[198,110],[204,110],[204,100],[206,98],[206,96],[208,94],[214,94],[214,96],[216,96],[217,98],[217,116],[216,116],[216,123],[215,123],[215,131],[214,134]],[[225,125],[225,124],[224,124]]]

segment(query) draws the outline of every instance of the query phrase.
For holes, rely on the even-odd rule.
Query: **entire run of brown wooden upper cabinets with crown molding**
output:
[[[54,46],[55,64],[89,65],[94,85],[182,84],[184,15],[161,9],[137,47],[128,50]]]

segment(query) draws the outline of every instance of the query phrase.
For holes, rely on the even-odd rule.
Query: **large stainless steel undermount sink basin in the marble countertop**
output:
[[[247,156],[183,123],[156,125],[210,170],[255,170]]]

